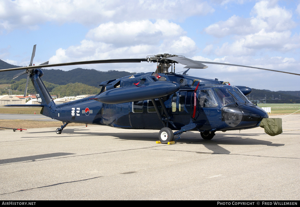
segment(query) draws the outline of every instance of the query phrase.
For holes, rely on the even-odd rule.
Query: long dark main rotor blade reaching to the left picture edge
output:
[[[7,68],[1,69],[2,71],[13,71],[13,70],[22,70],[22,69],[34,69],[34,68],[49,68],[49,67],[57,67],[57,66],[67,66],[67,65],[85,65],[85,64],[98,64],[98,63],[127,63],[127,62],[148,62],[147,58],[140,59],[110,59],[110,60],[90,60],[90,61],[79,61],[79,62],[65,62],[65,63],[55,63],[49,65],[34,65],[27,67],[19,67],[19,68]]]

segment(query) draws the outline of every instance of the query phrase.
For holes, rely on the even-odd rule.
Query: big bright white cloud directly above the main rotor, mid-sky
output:
[[[159,53],[189,56],[197,47],[185,34],[179,25],[167,20],[110,22],[91,29],[80,45],[58,49],[49,61],[142,58]]]

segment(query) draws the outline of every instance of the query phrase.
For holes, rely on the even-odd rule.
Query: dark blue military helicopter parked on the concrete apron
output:
[[[123,129],[158,129],[158,139],[168,143],[187,131],[198,131],[205,140],[214,137],[216,131],[241,130],[258,127],[268,114],[247,99],[251,88],[232,86],[228,82],[187,75],[190,68],[207,68],[204,64],[233,65],[228,63],[195,61],[184,56],[158,54],[140,59],[108,59],[32,65],[35,56],[34,45],[30,65],[27,67],[1,69],[1,71],[24,70],[13,78],[27,74],[24,96],[29,79],[36,90],[40,104],[5,105],[41,107],[41,114],[63,125],[56,129],[61,134],[69,123],[107,125]],[[66,65],[153,62],[155,72],[104,81],[97,95],[56,105],[46,89],[41,77],[41,68]],[[175,73],[175,65],[187,68],[183,74]],[[171,72],[169,69],[171,68]],[[257,68],[275,72],[296,73]],[[175,132],[173,132],[175,130]],[[282,129],[281,129],[282,132]],[[178,139],[179,139],[178,138]]]

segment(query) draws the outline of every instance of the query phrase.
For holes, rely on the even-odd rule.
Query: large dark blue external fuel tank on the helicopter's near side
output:
[[[95,100],[107,104],[118,104],[132,101],[161,98],[175,93],[180,85],[174,82],[158,81],[141,86],[115,88],[101,93]]]

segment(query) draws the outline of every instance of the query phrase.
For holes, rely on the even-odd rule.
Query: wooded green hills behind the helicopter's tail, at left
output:
[[[11,65],[0,60],[0,69],[17,68],[17,65]],[[20,71],[6,71],[1,72],[0,95],[8,94],[8,90],[13,93],[22,94],[25,90],[26,75],[21,75],[18,78],[12,79],[14,75]],[[49,90],[51,95],[60,96],[77,96],[81,94],[98,94],[100,92],[99,84],[103,81],[122,78],[124,76],[134,75],[135,73],[125,71],[97,71],[94,69],[76,68],[70,71],[63,71],[59,69],[44,69],[44,76],[42,80]],[[10,86],[9,86],[10,85]],[[35,90],[31,83],[28,84],[27,94],[35,94]]]

